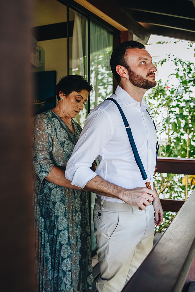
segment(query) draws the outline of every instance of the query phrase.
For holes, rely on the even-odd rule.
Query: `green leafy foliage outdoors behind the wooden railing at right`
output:
[[[171,58],[170,55],[161,60],[159,65],[162,66],[165,62],[173,62],[175,72],[170,74],[165,83],[160,79],[147,96],[151,114],[157,120],[158,140],[164,140],[160,144],[158,156],[195,158],[194,63]],[[176,85],[172,84],[173,77],[177,80]],[[186,199],[195,187],[195,180],[192,176],[191,179],[190,176],[187,177],[186,188],[184,175],[157,173],[154,184],[160,197]],[[174,216],[175,213],[165,212],[162,223],[164,227],[157,227],[156,231],[164,231]]]

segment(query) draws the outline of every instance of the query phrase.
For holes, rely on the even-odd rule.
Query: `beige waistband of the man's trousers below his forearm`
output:
[[[127,203],[115,203],[111,201],[105,201],[100,199],[99,196],[96,196],[96,204],[98,204],[102,210],[102,208],[108,209],[108,210],[113,210],[113,211],[123,211],[123,212],[128,212],[131,211],[134,213],[134,210],[138,210],[139,207],[137,206],[132,206]]]

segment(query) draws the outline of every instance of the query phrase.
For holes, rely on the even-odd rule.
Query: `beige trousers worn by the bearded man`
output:
[[[100,264],[96,288],[99,292],[120,292],[152,248],[153,205],[140,211],[97,196],[94,235]]]

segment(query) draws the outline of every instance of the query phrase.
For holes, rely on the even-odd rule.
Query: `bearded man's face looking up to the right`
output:
[[[149,89],[156,86],[156,67],[152,57],[145,49],[127,49],[129,80],[137,87]]]

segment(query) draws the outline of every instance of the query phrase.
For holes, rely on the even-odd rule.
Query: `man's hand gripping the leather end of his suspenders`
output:
[[[136,187],[132,190],[123,189],[119,194],[122,201],[132,206],[138,206],[139,210],[145,210],[155,197],[156,191],[146,187]]]

